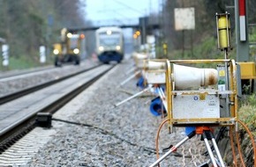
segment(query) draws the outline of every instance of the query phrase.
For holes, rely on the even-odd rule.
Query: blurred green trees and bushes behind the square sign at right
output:
[[[256,20],[256,1],[248,0],[248,22],[254,23]],[[172,0],[167,1],[162,9],[162,36],[161,42],[168,43],[170,59],[209,59],[222,58],[223,54],[217,49],[216,42],[216,20],[215,13],[230,13],[231,46],[236,49],[235,42],[235,10],[227,8],[233,6],[234,1],[223,0]],[[176,8],[193,7],[195,11],[194,30],[175,30],[174,10]],[[256,31],[249,31],[252,34],[250,41],[256,42]],[[256,51],[256,48],[255,48]],[[161,53],[161,52],[160,52]],[[230,58],[236,57],[236,50],[231,51]],[[256,54],[256,52],[254,52]]]

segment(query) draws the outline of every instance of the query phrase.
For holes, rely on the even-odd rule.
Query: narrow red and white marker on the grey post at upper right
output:
[[[246,40],[246,18],[245,18],[245,0],[239,0],[239,25],[240,25],[240,40]]]

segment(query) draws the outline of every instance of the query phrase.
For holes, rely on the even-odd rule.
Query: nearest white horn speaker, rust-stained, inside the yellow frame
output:
[[[200,69],[173,64],[173,78],[175,90],[188,90],[217,84],[218,71],[216,69]]]

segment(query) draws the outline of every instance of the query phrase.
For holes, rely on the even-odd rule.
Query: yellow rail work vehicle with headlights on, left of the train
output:
[[[55,66],[59,67],[63,63],[79,65],[83,40],[85,40],[83,33],[72,33],[64,28],[61,31],[61,42],[53,45]]]

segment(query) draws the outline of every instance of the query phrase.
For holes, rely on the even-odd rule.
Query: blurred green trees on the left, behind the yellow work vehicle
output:
[[[62,28],[86,25],[80,4],[79,0],[0,0],[0,37],[9,45],[8,69],[40,65],[40,46],[50,50],[60,40]]]

